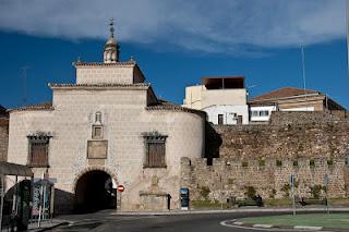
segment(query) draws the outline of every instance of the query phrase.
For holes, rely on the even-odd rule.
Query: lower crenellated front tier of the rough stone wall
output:
[[[349,168],[342,158],[214,158],[212,166],[206,161],[181,159],[181,186],[190,188],[191,200],[226,202],[228,197],[244,197],[251,188],[263,198],[289,197],[290,174],[296,176],[299,197],[324,196],[325,174],[329,175],[329,197],[347,197],[349,192]]]

